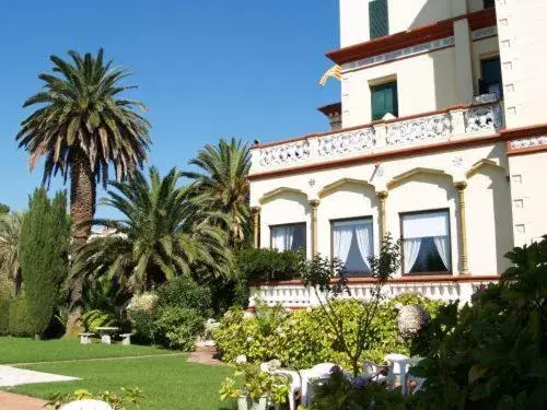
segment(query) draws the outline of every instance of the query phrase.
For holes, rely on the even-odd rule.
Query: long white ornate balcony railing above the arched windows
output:
[[[253,173],[393,151],[412,144],[494,133],[503,126],[499,103],[472,105],[421,117],[380,121],[338,132],[265,144],[253,149]]]

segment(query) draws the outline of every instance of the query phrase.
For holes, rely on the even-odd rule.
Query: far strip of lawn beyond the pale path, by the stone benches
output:
[[[58,362],[61,360],[141,356],[173,353],[148,345],[82,345],[77,339],[33,340],[0,337],[0,364]]]

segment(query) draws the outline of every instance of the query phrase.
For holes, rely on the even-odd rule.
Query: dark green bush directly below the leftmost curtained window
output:
[[[299,278],[302,254],[292,250],[251,248],[236,254],[236,267],[248,281],[274,281]]]

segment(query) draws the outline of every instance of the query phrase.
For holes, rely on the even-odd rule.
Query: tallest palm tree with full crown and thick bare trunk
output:
[[[95,214],[96,184],[106,186],[108,165],[116,178],[125,179],[147,159],[150,145],[149,122],[137,114],[140,102],[119,95],[130,89],[120,84],[129,73],[104,62],[103,50],[96,57],[68,52],[71,61],[51,56],[54,74],[42,73],[43,91],[30,97],[23,107],[39,105],[21,124],[19,147],[30,153],[33,169],[44,156],[43,183],[61,174],[70,177],[70,215],[74,250],[85,244]],[[82,283],[71,284],[69,335],[78,331],[81,316]]]

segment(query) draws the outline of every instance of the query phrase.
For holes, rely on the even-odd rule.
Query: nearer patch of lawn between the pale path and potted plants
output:
[[[120,387],[139,387],[144,398],[142,409],[232,409],[221,402],[220,383],[232,374],[229,366],[211,366],[186,362],[186,356],[155,356],[110,361],[33,364],[25,368],[81,377],[82,380],[18,386],[10,391],[47,398],[56,393],[84,388],[91,393]]]

